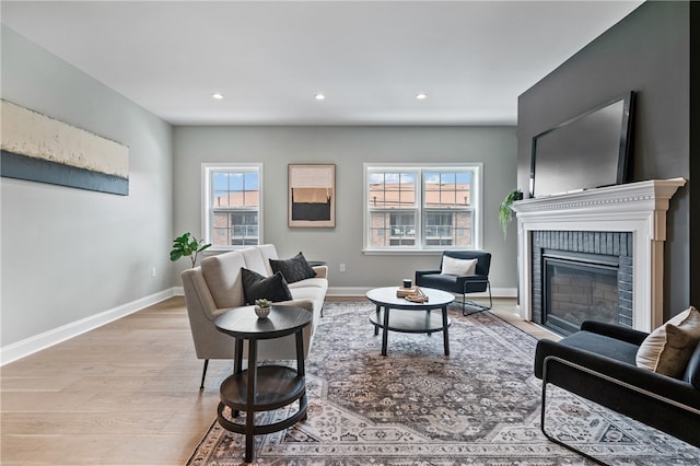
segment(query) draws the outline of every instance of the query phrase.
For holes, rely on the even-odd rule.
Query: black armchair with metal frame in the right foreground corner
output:
[[[700,447],[700,345],[678,380],[635,365],[637,350],[648,335],[586,321],[579,331],[558,342],[539,340],[535,375],[542,380],[542,433],[552,442],[604,464],[547,433],[547,384],[555,384]]]

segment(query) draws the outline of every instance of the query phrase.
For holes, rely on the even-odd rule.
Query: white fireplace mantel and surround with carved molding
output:
[[[652,179],[514,202],[521,317],[533,319],[530,232],[631,232],[632,325],[638,330],[651,331],[663,324],[666,211],[668,200],[685,184],[684,178]]]

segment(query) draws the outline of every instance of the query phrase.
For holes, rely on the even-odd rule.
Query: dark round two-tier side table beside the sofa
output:
[[[245,434],[245,462],[252,463],[255,435],[277,432],[306,419],[306,383],[302,329],[311,324],[313,314],[303,307],[272,306],[267,318],[258,318],[253,306],[229,311],[214,319],[217,328],[235,338],[233,375],[221,384],[218,408],[219,423],[231,432]],[[258,340],[296,335],[296,370],[283,365],[257,364]],[[243,366],[243,341],[248,340],[248,369]],[[287,419],[255,424],[257,411],[269,411],[299,399],[299,410]],[[231,408],[231,419],[223,413]],[[245,424],[234,421],[245,411]]]

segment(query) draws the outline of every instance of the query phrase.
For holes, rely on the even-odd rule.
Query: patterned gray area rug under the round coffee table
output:
[[[308,419],[256,436],[260,465],[586,465],[539,430],[536,339],[485,312],[451,308],[442,334],[389,333],[370,303],[326,303],[306,363]],[[700,450],[548,387],[549,432],[610,465],[698,465]],[[298,409],[256,415],[269,423]],[[245,416],[245,413],[243,415]],[[245,439],[217,421],[188,465],[238,465]]]

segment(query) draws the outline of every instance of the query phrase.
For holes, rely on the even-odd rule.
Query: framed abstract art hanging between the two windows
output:
[[[289,226],[336,226],[336,165],[289,165]]]

